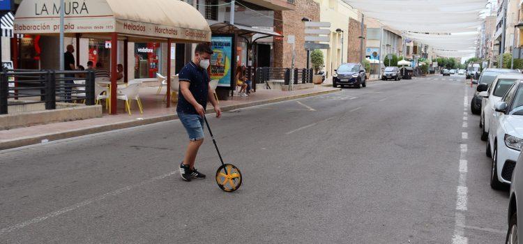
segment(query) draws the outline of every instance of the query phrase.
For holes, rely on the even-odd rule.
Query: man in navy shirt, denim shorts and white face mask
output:
[[[189,144],[183,162],[180,164],[181,178],[190,181],[191,178],[205,178],[205,174],[195,169],[195,160],[198,149],[204,142],[204,115],[207,102],[210,101],[220,118],[222,110],[215,100],[213,91],[209,87],[209,68],[213,50],[205,43],[199,43],[195,49],[195,56],[179,73],[180,93],[176,112],[187,130]]]

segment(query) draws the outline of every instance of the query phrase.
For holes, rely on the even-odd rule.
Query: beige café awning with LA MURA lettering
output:
[[[59,0],[24,0],[15,15],[20,34],[58,34]],[[209,42],[211,29],[199,11],[175,0],[66,1],[66,36],[109,36],[135,41],[172,38],[173,42]]]

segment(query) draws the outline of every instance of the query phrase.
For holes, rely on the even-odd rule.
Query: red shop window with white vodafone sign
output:
[[[135,43],[135,78],[155,78],[160,56],[160,43]]]

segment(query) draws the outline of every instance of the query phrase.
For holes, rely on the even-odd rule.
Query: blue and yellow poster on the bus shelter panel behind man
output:
[[[211,80],[218,79],[218,86],[230,87],[234,67],[232,36],[213,36],[211,45],[213,56],[211,56]]]

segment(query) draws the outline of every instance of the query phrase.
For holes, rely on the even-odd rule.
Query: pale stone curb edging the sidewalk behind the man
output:
[[[298,98],[307,98],[310,96],[319,96],[327,93],[335,93],[341,91],[341,89],[333,89],[331,91],[319,91],[319,92],[313,92],[313,93],[305,93],[300,94],[296,96],[289,96],[289,97],[282,97],[282,98],[273,98],[273,99],[267,99],[267,100],[259,100],[256,102],[246,102],[239,105],[230,105],[226,107],[222,107],[222,112],[228,112],[234,109],[243,109],[245,107],[254,107],[258,105],[265,105],[269,103],[274,102],[282,102],[286,100],[294,100]],[[214,112],[213,109],[207,109],[208,113]],[[176,114],[168,114],[168,115],[162,115],[162,116],[156,116],[151,117],[143,120],[135,120],[135,121],[123,121],[119,123],[112,123],[110,125],[95,125],[88,128],[82,128],[82,129],[76,129],[76,130],[67,130],[64,132],[57,132],[57,133],[50,133],[45,135],[38,135],[35,137],[20,137],[17,139],[12,139],[4,142],[0,142],[0,150],[6,150],[10,148],[17,148],[20,146],[29,146],[33,144],[40,144],[44,140],[46,142],[52,142],[59,139],[68,139],[71,137],[80,137],[83,135],[91,135],[96,134],[100,132],[107,132],[111,130],[120,130],[125,128],[132,128],[140,125],[149,125],[153,123],[159,123],[164,121],[172,121],[178,119],[178,116]]]

